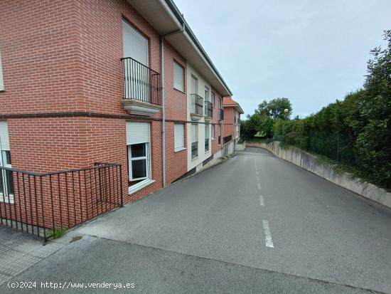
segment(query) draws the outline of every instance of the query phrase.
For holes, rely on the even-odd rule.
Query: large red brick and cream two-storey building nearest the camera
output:
[[[232,93],[172,0],[5,0],[0,27],[0,166],[115,162],[127,203],[219,156]],[[0,180],[1,219],[18,200]]]

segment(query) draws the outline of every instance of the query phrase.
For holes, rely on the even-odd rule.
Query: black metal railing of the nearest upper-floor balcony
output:
[[[121,58],[124,65],[124,98],[161,105],[160,73],[133,58]]]

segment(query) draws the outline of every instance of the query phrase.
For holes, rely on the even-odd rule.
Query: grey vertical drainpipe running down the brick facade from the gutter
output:
[[[171,33],[165,33],[160,36],[161,46],[161,161],[163,169],[163,187],[166,187],[166,87],[164,85],[164,38],[167,36],[175,35],[177,33],[183,33],[185,31],[185,22],[182,22],[182,28]]]

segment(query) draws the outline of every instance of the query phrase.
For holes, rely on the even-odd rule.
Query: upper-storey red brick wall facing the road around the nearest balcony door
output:
[[[82,97],[87,111],[126,115],[122,61],[122,19],[149,39],[149,67],[160,68],[160,36],[126,0],[77,0],[82,55]],[[161,112],[154,115],[161,117]]]

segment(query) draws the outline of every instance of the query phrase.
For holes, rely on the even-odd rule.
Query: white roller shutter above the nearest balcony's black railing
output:
[[[124,57],[132,57],[148,66],[148,39],[136,31],[127,21],[122,20]]]

